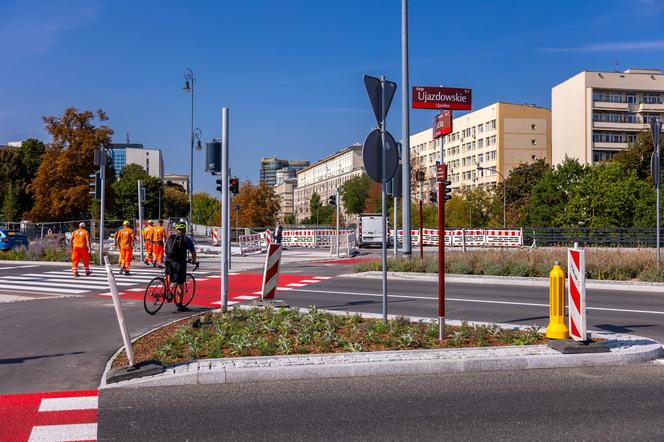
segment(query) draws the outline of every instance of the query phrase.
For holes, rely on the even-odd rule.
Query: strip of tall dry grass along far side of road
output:
[[[447,253],[446,273],[462,275],[549,276],[554,261],[560,261],[565,271],[566,249],[482,250]],[[381,270],[380,261],[363,262],[354,272]],[[437,273],[438,258],[391,258],[391,272]],[[640,280],[664,282],[664,270],[657,270],[652,249],[586,249],[586,277],[604,280]]]

